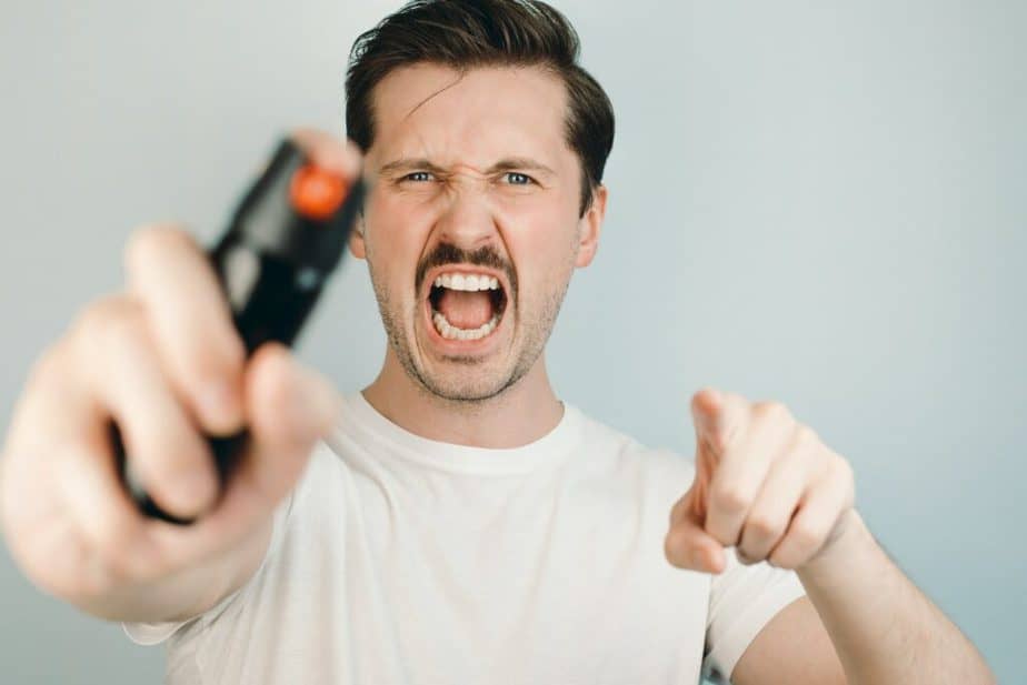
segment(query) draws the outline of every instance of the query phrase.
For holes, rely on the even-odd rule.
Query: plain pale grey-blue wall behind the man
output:
[[[341,132],[352,40],[396,2],[10,2],[0,16],[0,415],[121,280],[133,226],[205,240],[286,129]],[[1021,677],[1027,6],[558,3],[617,141],[598,256],[549,345],[558,393],[692,454],[705,384],[845,454],[899,565]],[[346,263],[300,344],[340,387],[385,334]],[[59,560],[56,560],[59,563]],[[0,679],[156,683],[159,648],[0,555]]]

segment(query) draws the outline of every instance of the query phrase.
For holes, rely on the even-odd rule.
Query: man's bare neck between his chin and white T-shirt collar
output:
[[[480,402],[433,395],[410,379],[388,347],[386,361],[363,397],[398,426],[439,442],[473,447],[519,447],[557,426],[564,405],[549,385],[545,354],[501,394]]]

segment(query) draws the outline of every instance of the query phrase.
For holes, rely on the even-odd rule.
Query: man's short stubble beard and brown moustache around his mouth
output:
[[[514,316],[512,344],[515,350],[509,357],[511,361],[499,367],[493,359],[450,355],[443,359],[451,365],[451,369],[431,372],[418,361],[411,350],[411,341],[416,338],[417,321],[421,316],[420,308],[425,303],[418,298],[409,310],[402,311],[401,299],[395,298],[388,286],[376,276],[370,255],[368,255],[367,263],[389,346],[407,376],[425,392],[463,405],[483,403],[500,396],[535,366],[552,333],[560,305],[570,284],[568,273],[555,290],[546,293],[538,311],[531,311],[531,308],[526,310],[521,308],[517,274],[512,265],[508,264],[495,249],[486,245],[468,252],[451,244],[439,244],[418,264],[415,283],[420,285],[429,269],[447,264],[475,264],[506,272],[512,292],[506,293],[507,308],[503,318]],[[408,325],[405,325],[405,322]],[[510,322],[503,323],[510,324]],[[407,331],[410,332],[409,335]]]

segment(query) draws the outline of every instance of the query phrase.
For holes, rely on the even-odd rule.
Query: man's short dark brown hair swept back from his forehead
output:
[[[353,42],[346,74],[346,130],[367,152],[375,139],[371,95],[389,72],[417,62],[548,69],[562,79],[568,147],[581,162],[580,214],[591,205],[614,147],[614,107],[577,64],[580,42],[564,14],[539,0],[411,0]]]

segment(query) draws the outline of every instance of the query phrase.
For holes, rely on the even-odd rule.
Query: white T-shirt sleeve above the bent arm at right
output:
[[[746,648],[788,604],[806,594],[795,571],[766,562],[747,566],[725,551],[727,567],[712,576],[706,623],[702,675],[714,683],[730,682],[735,664]]]

